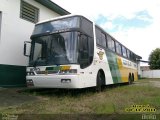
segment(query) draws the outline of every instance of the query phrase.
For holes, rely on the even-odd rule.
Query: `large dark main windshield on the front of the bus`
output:
[[[78,34],[78,32],[64,32],[33,38],[29,65],[76,64]]]

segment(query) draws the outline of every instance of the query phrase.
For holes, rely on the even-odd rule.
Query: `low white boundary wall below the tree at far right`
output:
[[[160,78],[160,70],[142,71],[141,75],[144,78]]]

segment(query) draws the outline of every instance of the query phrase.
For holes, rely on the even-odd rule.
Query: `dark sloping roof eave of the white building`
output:
[[[59,5],[55,4],[54,2],[52,2],[51,0],[35,0],[36,2],[42,4],[43,6],[51,9],[52,11],[55,11],[56,13],[60,14],[60,15],[68,15],[71,14],[70,12],[68,12],[67,10],[63,9],[62,7],[60,7]]]

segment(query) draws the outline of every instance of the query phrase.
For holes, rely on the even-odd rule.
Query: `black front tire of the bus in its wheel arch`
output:
[[[104,72],[102,70],[99,70],[97,74],[97,80],[96,80],[96,91],[101,92],[103,85],[105,85]]]

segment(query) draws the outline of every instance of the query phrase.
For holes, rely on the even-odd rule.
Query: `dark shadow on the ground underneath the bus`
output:
[[[107,85],[102,88],[102,92],[106,90],[114,89],[118,86],[124,86],[126,84],[113,84],[113,85]],[[82,89],[58,89],[58,88],[26,88],[23,90],[20,90],[19,92],[22,92],[24,94],[30,94],[35,96],[56,96],[56,97],[64,97],[64,96],[72,96],[72,97],[78,97],[81,95],[87,95],[87,94],[96,94],[96,88],[82,88]]]

